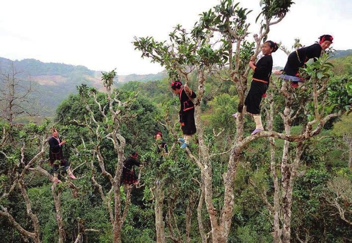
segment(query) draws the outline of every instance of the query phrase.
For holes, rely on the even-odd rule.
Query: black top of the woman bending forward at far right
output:
[[[298,70],[304,66],[309,59],[320,58],[322,47],[319,43],[315,43],[308,47],[297,49],[288,55],[287,62],[283,71],[286,75],[298,76]]]

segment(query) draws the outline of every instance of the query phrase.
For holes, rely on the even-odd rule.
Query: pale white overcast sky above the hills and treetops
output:
[[[156,73],[163,68],[141,59],[133,36],[168,39],[176,24],[190,29],[198,14],[219,0],[3,0],[0,3],[0,57],[33,58],[44,62],[84,65],[93,70],[117,68],[120,75]],[[291,47],[299,37],[313,44],[322,34],[334,36],[337,50],[352,49],[352,0],[295,0],[270,40]],[[253,9],[251,31],[259,0],[241,0]],[[350,26],[350,27],[349,27]],[[253,35],[251,35],[253,36]],[[285,55],[277,51],[274,65],[283,66]]]

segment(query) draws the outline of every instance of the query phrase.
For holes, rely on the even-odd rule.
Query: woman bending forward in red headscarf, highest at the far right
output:
[[[286,65],[283,69],[284,74],[280,78],[291,81],[292,87],[298,87],[303,84],[303,79],[299,76],[299,68],[303,67],[309,59],[318,59],[323,51],[330,47],[333,43],[331,35],[322,35],[319,37],[319,43],[315,43],[308,47],[297,49],[288,55]]]

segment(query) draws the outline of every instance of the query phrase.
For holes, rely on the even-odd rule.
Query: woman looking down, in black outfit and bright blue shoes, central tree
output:
[[[173,81],[171,83],[171,89],[174,94],[178,95],[180,101],[178,114],[183,138],[178,138],[178,141],[182,143],[181,148],[186,148],[189,145],[192,135],[197,131],[194,122],[194,104],[190,100],[190,98],[194,99],[197,96],[187,85],[182,87],[180,81]]]

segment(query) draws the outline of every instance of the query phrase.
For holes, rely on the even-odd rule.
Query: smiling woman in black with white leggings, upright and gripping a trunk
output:
[[[264,55],[257,64],[255,64],[255,57],[251,58],[249,66],[253,69],[253,77],[250,91],[245,100],[244,111],[252,115],[256,122],[256,129],[251,133],[256,134],[259,131],[263,131],[263,124],[261,118],[260,104],[262,97],[265,97],[267,87],[269,85],[269,78],[272,69],[272,57],[271,53],[276,52],[278,46],[275,42],[266,41],[262,47],[262,53]],[[242,112],[242,111],[241,111]],[[232,115],[237,118],[237,113]]]

